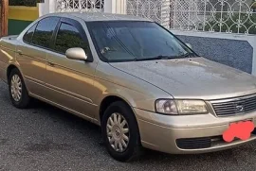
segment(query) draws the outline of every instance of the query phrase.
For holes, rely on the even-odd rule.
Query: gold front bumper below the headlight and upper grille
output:
[[[210,113],[170,116],[138,109],[134,111],[142,145],[157,151],[171,154],[205,153],[228,149],[256,139],[256,134],[251,134],[247,141],[236,139],[226,143],[222,139],[222,134],[229,128],[230,123],[250,119],[256,126],[256,112],[216,117]],[[180,145],[178,142],[183,140],[185,142]],[[210,145],[202,145],[206,142]]]

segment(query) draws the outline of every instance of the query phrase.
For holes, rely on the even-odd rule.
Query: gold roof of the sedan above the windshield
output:
[[[113,13],[103,13],[103,12],[59,12],[51,13],[50,16],[60,16],[60,17],[78,17],[85,22],[96,22],[96,21],[151,21],[146,18],[137,17],[134,15],[124,15],[124,14],[113,14]],[[48,16],[49,16],[48,15]]]

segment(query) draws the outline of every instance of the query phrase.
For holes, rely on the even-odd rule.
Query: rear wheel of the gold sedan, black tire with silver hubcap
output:
[[[16,92],[16,96],[14,95],[13,91]],[[19,93],[17,93],[17,91],[19,91]],[[17,96],[17,94],[20,95]],[[9,74],[9,96],[14,107],[18,109],[26,109],[29,106],[30,97],[27,93],[24,79],[17,68],[12,69]]]

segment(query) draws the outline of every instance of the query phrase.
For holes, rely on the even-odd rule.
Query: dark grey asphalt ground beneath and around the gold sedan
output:
[[[200,155],[146,150],[138,162],[116,162],[99,143],[100,128],[45,103],[17,110],[1,81],[0,109],[0,171],[256,170],[256,142]]]

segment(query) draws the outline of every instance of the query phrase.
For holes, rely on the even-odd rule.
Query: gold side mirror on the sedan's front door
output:
[[[80,47],[69,48],[65,52],[65,56],[70,60],[87,60],[88,57],[84,50]]]

